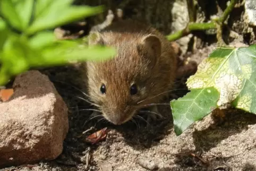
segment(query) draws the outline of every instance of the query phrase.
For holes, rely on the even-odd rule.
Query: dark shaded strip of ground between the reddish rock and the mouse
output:
[[[83,94],[86,93],[86,78],[84,77],[86,68],[83,65],[58,66],[41,69],[40,72],[46,74],[53,82],[69,109],[69,131],[63,142],[63,151],[51,164],[60,166],[64,170],[71,168],[76,170],[77,166],[82,163],[81,158],[84,156],[82,152],[88,148],[97,147],[79,138],[84,131],[83,124],[89,117],[88,112],[82,113],[79,109],[90,108],[89,102],[83,100],[87,100]]]

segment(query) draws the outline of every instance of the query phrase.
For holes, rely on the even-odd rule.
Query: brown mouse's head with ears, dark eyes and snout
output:
[[[89,45],[114,47],[117,55],[108,61],[87,62],[90,98],[103,116],[114,124],[129,121],[148,98],[161,42],[155,35],[92,33]]]

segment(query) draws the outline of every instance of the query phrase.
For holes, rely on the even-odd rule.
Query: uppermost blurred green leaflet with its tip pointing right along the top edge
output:
[[[35,21],[31,24],[27,33],[52,29],[85,17],[103,12],[103,6],[70,6],[72,1],[38,1],[36,5]]]

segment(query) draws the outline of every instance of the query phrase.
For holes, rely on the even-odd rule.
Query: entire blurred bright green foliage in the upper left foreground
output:
[[[103,6],[75,6],[72,0],[0,1],[0,86],[31,67],[103,60],[115,49],[87,47],[55,39],[54,28],[104,11]]]

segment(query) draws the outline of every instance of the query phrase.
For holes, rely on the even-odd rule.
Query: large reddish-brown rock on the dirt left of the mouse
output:
[[[0,103],[0,166],[55,159],[69,129],[65,102],[39,71],[17,76],[13,89]]]

